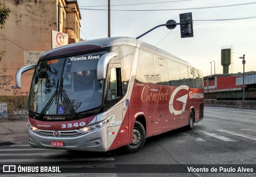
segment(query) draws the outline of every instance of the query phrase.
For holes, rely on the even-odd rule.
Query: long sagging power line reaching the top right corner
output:
[[[195,9],[208,9],[208,8],[222,8],[222,7],[232,7],[232,6],[243,6],[243,5],[250,5],[250,4],[256,4],[256,2],[249,2],[249,3],[243,3],[243,4],[230,4],[230,5],[224,5],[224,6],[211,6],[211,7],[198,7],[198,8],[180,8],[180,9],[153,9],[153,10],[113,10],[111,11],[142,11],[142,12],[147,12],[147,11],[171,11],[171,10],[195,10]],[[70,7],[66,7],[70,8]],[[74,8],[71,8],[74,9]],[[90,9],[90,8],[79,8],[79,10],[103,10],[107,11],[107,9]]]

